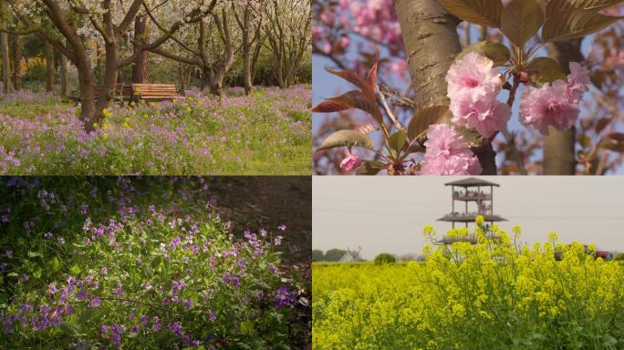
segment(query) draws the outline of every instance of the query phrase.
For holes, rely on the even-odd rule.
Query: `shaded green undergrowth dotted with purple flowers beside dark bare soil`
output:
[[[277,251],[286,227],[239,232],[203,178],[4,178],[0,198],[0,345],[309,341],[305,283]]]

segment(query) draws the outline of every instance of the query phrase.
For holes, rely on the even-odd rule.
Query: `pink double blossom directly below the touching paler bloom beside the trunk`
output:
[[[489,101],[485,98],[473,100],[470,97],[452,100],[453,123],[475,129],[484,138],[505,129],[511,118],[511,108],[502,102]]]

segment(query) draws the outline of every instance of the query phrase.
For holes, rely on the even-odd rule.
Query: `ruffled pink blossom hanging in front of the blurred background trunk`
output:
[[[568,98],[567,83],[556,80],[542,88],[525,88],[520,99],[520,121],[548,135],[548,126],[567,130],[578,118],[578,105]]]

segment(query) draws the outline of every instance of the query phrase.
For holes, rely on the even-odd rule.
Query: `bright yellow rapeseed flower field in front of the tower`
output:
[[[426,262],[315,263],[313,348],[623,348],[618,262],[554,233],[518,251],[519,233],[477,229],[478,244],[426,247]]]

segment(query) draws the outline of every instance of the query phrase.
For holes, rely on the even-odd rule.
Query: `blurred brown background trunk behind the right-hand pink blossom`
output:
[[[569,73],[570,62],[581,62],[585,58],[580,52],[582,39],[570,42],[548,44],[549,56],[556,59],[565,73]],[[574,175],[576,173],[577,158],[575,155],[577,129],[572,127],[567,131],[557,131],[550,128],[544,142],[544,174],[545,175]]]

